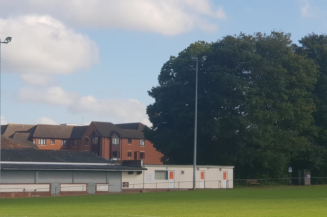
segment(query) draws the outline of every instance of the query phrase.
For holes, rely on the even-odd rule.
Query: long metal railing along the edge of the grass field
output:
[[[326,185],[327,177],[311,177],[308,183],[305,178],[258,178],[256,179],[260,187],[269,186],[288,186],[288,185]],[[223,189],[223,188],[246,188],[250,179],[229,179],[225,181],[211,180],[211,181],[196,181],[197,189]],[[251,179],[253,180],[253,179]],[[48,188],[2,188],[1,197],[5,197],[5,193],[15,192],[15,197],[41,197],[41,196],[61,196],[61,195],[88,195],[88,184],[61,184],[59,189],[55,187],[55,193],[51,194],[51,184]],[[34,184],[35,185],[35,184]],[[125,183],[121,185],[110,184],[96,184],[94,194],[111,194],[111,193],[139,193],[144,191],[181,191],[192,189],[192,181],[164,181],[152,183]],[[119,191],[110,192],[110,189],[120,189]],[[1,190],[1,189],[0,189]],[[5,190],[5,191],[3,191]],[[12,191],[10,191],[12,190]]]

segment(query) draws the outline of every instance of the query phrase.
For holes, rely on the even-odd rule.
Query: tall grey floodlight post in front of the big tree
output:
[[[194,153],[193,153],[193,190],[196,189],[196,121],[197,121],[197,63],[199,61],[204,62],[207,56],[203,56],[200,60],[196,55],[191,55],[191,59],[196,61],[196,106],[195,106],[195,118],[194,118]]]

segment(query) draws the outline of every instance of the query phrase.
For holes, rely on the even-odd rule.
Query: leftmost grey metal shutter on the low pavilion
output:
[[[1,170],[1,183],[35,183],[35,171]]]

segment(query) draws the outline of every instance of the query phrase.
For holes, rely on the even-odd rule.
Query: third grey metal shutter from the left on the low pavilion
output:
[[[107,183],[107,172],[74,171],[74,183]]]

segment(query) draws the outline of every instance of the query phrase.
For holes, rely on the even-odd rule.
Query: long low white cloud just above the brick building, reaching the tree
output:
[[[142,122],[151,126],[146,115],[146,105],[136,99],[96,99],[94,96],[79,96],[61,87],[47,89],[22,88],[20,99],[26,102],[66,106],[72,114],[110,119],[114,123]]]

